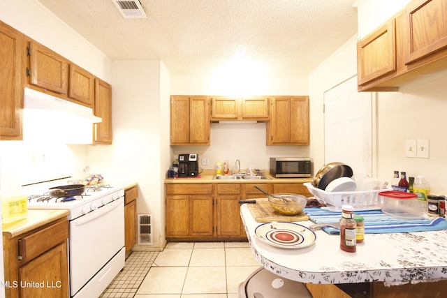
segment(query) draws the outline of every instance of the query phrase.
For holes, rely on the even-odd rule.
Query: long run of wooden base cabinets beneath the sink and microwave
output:
[[[166,184],[166,239],[247,241],[239,201],[265,198],[254,186],[311,196],[302,183]]]

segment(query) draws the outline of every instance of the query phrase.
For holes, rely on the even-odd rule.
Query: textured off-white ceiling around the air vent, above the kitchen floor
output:
[[[124,19],[112,0],[38,0],[112,60],[162,60],[206,75],[235,57],[307,75],[357,32],[356,0],[140,0]]]

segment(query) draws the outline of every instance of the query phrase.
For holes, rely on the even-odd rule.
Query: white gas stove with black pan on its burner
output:
[[[24,186],[28,209],[70,211],[70,297],[99,297],[124,267],[124,187],[101,184],[85,186],[81,195],[66,198],[48,195],[50,188],[61,188],[64,184],[68,186],[69,182],[57,179]],[[82,184],[79,186],[82,188]]]

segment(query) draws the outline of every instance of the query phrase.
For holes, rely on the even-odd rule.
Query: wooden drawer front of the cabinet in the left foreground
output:
[[[22,257],[22,263],[36,258],[45,253],[57,244],[68,239],[68,220],[65,219],[47,228],[38,230],[27,237],[23,237],[19,242],[19,255]]]

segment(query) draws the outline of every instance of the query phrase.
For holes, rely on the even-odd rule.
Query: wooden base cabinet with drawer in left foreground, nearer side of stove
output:
[[[68,297],[68,220],[29,232],[3,229],[6,297]]]

